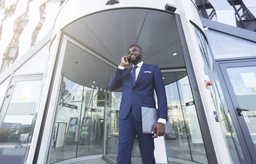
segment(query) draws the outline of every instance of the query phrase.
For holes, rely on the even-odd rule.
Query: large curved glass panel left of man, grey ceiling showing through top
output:
[[[103,154],[105,98],[111,76],[105,77],[114,70],[67,42],[48,164]]]

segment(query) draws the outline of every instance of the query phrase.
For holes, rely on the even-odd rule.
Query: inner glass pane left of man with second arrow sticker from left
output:
[[[77,157],[103,153],[105,92],[84,87]]]

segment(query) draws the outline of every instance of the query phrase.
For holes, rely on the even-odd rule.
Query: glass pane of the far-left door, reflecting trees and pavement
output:
[[[0,163],[23,161],[40,89],[41,80],[15,83],[0,130]]]

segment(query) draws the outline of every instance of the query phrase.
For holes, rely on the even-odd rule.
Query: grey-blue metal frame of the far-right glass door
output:
[[[225,99],[227,100],[227,105],[229,109],[233,109],[229,110],[230,116],[233,120],[234,125],[236,124],[234,128],[239,139],[244,158],[246,161],[248,160],[248,158],[250,158],[253,163],[256,163],[256,149],[254,147],[252,138],[250,137],[250,133],[245,123],[244,117],[239,116],[237,111],[235,110],[237,107],[239,107],[239,104],[237,102],[236,94],[233,90],[232,83],[226,69],[232,67],[256,66],[255,61],[248,59],[240,61],[225,61],[218,62],[218,65],[220,69],[219,77],[222,77],[220,78],[220,80],[221,85],[223,86],[222,89],[224,90],[223,94]]]

